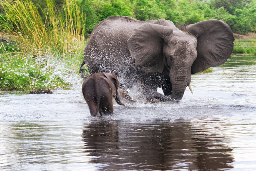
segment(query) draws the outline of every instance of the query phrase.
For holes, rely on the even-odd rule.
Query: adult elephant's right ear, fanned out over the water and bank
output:
[[[227,23],[206,20],[188,25],[186,29],[197,37],[197,58],[192,64],[191,74],[219,66],[228,60],[235,39]]]

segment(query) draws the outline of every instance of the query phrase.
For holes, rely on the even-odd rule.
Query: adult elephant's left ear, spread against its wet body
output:
[[[172,34],[172,27],[145,23],[136,28],[127,40],[135,65],[145,67],[146,72],[163,72],[164,37]]]

